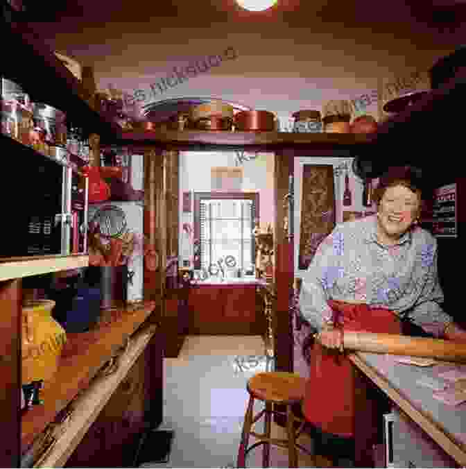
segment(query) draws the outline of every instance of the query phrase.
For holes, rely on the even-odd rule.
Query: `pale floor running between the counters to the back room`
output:
[[[164,422],[160,429],[173,429],[175,433],[170,460],[141,467],[236,467],[249,397],[246,382],[266,369],[265,359],[256,368],[241,366],[237,360],[238,356],[251,355],[264,355],[260,336],[189,336],[178,359],[164,359]],[[261,403],[257,404],[260,410]],[[283,438],[283,429],[273,425],[273,436]],[[312,448],[307,435],[300,438],[300,443]],[[252,450],[247,466],[261,467],[261,453],[261,446]],[[318,467],[330,467],[325,459],[315,461],[300,453],[300,467],[313,468],[316,463]],[[270,467],[288,467],[286,450],[271,447]]]

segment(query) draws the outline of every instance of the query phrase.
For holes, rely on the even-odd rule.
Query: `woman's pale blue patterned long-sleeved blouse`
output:
[[[331,318],[330,299],[391,309],[434,336],[453,321],[440,306],[437,240],[414,228],[383,246],[377,215],[336,225],[302,275],[301,314],[317,330]]]

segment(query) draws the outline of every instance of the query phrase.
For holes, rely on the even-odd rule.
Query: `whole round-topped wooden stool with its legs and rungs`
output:
[[[250,395],[248,409],[245,413],[243,434],[241,435],[241,443],[238,451],[238,468],[245,468],[246,454],[254,447],[264,445],[262,453],[262,467],[268,468],[270,465],[270,444],[277,445],[288,449],[288,467],[297,468],[297,450],[309,453],[306,448],[298,445],[296,439],[300,436],[306,422],[303,418],[296,417],[293,414],[293,404],[299,404],[304,399],[304,387],[306,380],[295,373],[285,372],[269,372],[257,373],[248,380],[248,393]],[[266,403],[264,410],[260,411],[256,416],[252,415],[254,400],[258,399]],[[273,410],[273,404],[286,406],[286,413]],[[286,432],[287,439],[270,438],[270,430],[272,423],[272,414],[286,416]],[[257,434],[252,431],[252,425],[265,415],[265,433]],[[295,432],[295,421],[301,423],[297,432]],[[250,435],[258,438],[259,441],[248,447]]]

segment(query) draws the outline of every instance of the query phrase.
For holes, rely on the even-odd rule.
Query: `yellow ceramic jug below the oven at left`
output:
[[[21,382],[44,380],[44,387],[58,370],[67,340],[63,327],[52,318],[55,301],[34,300],[23,305]]]

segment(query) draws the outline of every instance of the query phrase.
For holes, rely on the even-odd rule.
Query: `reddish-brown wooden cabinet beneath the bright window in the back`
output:
[[[189,334],[263,335],[265,319],[255,285],[199,285],[189,289]]]

